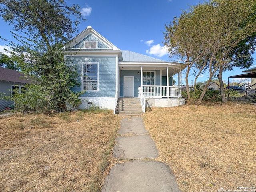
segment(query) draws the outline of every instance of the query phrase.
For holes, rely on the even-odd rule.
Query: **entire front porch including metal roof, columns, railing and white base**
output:
[[[117,66],[116,102],[118,98],[140,98],[143,112],[146,107],[184,104],[180,87],[184,64],[166,62],[130,51],[122,51],[122,58]],[[174,75],[177,75],[177,86],[174,86]]]

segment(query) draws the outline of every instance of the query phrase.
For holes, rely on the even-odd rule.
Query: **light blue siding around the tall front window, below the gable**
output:
[[[81,97],[114,97],[116,92],[116,57],[66,57],[66,63],[76,66],[78,74],[82,74],[82,63],[86,62],[97,62],[99,64],[99,91],[86,91]],[[82,83],[81,75],[77,80]],[[80,92],[82,85],[73,87],[71,90]]]

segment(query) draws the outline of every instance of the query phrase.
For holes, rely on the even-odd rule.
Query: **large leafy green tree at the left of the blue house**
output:
[[[70,91],[78,85],[78,74],[72,66],[66,66],[62,48],[77,32],[79,22],[85,20],[80,7],[67,6],[64,0],[0,0],[0,16],[13,25],[12,34],[18,43],[9,41],[12,58],[34,80],[30,91],[40,90],[44,96],[44,111],[66,110],[70,96],[79,96]]]

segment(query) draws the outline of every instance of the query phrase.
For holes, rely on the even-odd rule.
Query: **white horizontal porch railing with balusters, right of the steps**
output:
[[[152,98],[181,98],[181,87],[144,85],[142,88],[145,97]]]

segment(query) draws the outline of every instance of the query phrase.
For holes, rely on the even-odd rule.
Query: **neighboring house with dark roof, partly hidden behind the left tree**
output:
[[[7,95],[11,95],[14,92],[12,90],[18,88],[21,90],[25,84],[30,83],[30,81],[26,80],[24,74],[8,69],[0,67],[0,92],[6,93]],[[10,108],[12,101],[6,101],[0,99],[0,110]]]

